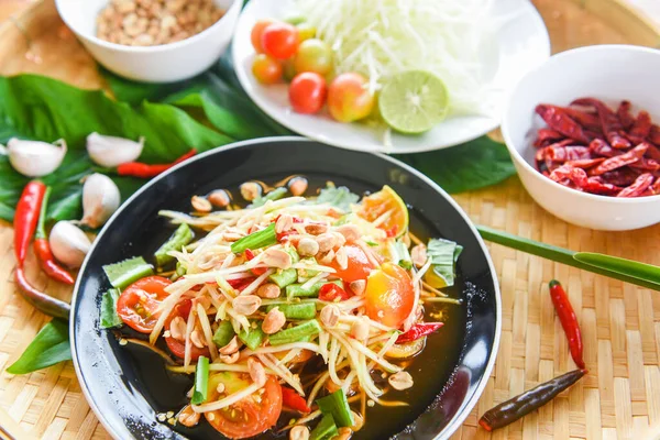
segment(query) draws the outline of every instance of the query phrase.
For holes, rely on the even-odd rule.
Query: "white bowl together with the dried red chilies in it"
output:
[[[630,135],[630,124],[636,123],[640,110],[647,111],[651,121],[660,122],[660,99],[653,92],[658,87],[658,72],[660,51],[600,45],[554,55],[514,87],[506,105],[502,132],[522,185],[541,207],[570,223],[597,230],[625,231],[660,222],[660,195],[653,195],[660,190],[660,163],[653,158],[660,147],[660,127],[642,133],[641,139]],[[603,119],[597,103],[594,107],[593,100],[581,100],[579,102],[592,108],[581,109],[582,113],[572,114],[566,121],[566,107],[584,97],[596,98],[613,108],[619,123],[628,114],[625,105],[620,113],[616,113],[617,106],[624,100],[632,103],[631,114],[638,117],[632,122],[625,121],[628,128],[617,127],[617,120],[609,121],[614,125],[603,124],[612,114],[603,110]],[[537,108],[539,105],[547,106]],[[552,114],[543,113],[556,106],[562,107]],[[543,114],[543,119],[537,113]],[[584,114],[590,117],[581,119],[580,116]],[[558,118],[559,125],[548,125],[546,121],[552,117]],[[571,123],[576,120],[580,120],[582,133],[572,131],[576,129]],[[541,132],[539,140],[540,129],[551,130]],[[572,141],[561,144],[560,140],[568,136],[552,129],[570,133]],[[557,139],[552,139],[553,135]],[[624,139],[616,139],[617,135]],[[626,139],[629,146],[625,145]],[[535,142],[540,148],[534,145]],[[557,148],[539,153],[554,142],[560,142],[554,144]],[[612,148],[609,144],[618,147]],[[640,147],[640,144],[644,146]],[[601,147],[609,150],[598,150]],[[547,162],[550,151],[561,154],[551,156],[551,161]],[[630,169],[624,169],[616,164],[622,156],[624,160],[636,156],[639,161],[632,161],[632,165],[626,165]],[[546,163],[550,168],[546,167]],[[543,170],[546,175],[541,174]],[[634,178],[626,182],[630,176]],[[618,177],[620,179],[616,179]],[[645,179],[648,182],[641,182]],[[640,188],[644,190],[640,191]],[[640,193],[645,196],[616,197],[638,196]]]

